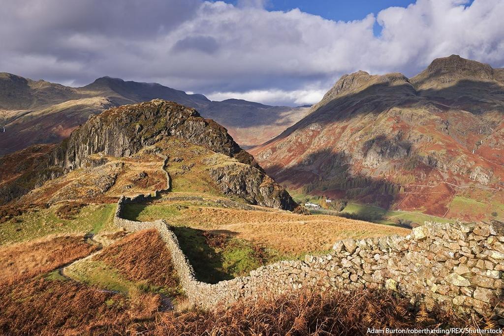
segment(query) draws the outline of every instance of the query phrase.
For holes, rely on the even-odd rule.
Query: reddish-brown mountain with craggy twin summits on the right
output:
[[[302,195],[445,218],[504,217],[504,69],[457,55],[407,78],[342,76],[251,153]]]

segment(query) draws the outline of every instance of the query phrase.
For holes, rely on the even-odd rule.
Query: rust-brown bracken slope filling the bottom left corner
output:
[[[128,299],[43,277],[0,286],[0,334],[117,335],[152,325],[159,295]]]

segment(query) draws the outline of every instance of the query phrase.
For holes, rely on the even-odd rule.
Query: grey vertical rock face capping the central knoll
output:
[[[203,119],[193,108],[163,100],[124,105],[91,117],[56,146],[49,164],[74,170],[92,153],[129,156],[170,135],[259,167],[224,127]]]

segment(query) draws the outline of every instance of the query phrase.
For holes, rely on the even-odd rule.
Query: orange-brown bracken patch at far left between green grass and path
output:
[[[12,282],[52,271],[88,256],[96,246],[83,236],[46,237],[33,242],[16,243],[0,249],[0,282]]]

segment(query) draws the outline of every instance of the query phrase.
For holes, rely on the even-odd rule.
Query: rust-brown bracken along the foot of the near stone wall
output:
[[[163,314],[154,335],[366,335],[367,328],[436,328],[488,325],[435,308],[410,305],[391,292],[320,292],[305,289],[280,297],[239,301],[211,312]]]

